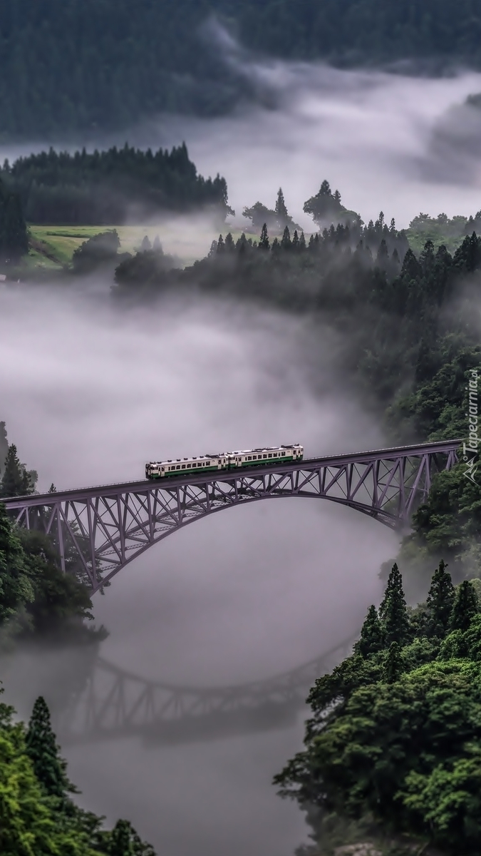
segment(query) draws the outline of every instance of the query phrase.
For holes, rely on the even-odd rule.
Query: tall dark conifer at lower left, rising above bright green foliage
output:
[[[25,744],[35,776],[46,794],[67,800],[68,793],[75,793],[74,785],[67,778],[67,764],[59,755],[50,725],[50,710],[42,696],[33,705]]]

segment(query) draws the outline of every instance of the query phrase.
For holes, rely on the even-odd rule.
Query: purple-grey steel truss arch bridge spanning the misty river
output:
[[[407,527],[413,510],[427,497],[433,474],[454,466],[461,442],[15,496],[2,502],[20,526],[55,538],[63,570],[66,557],[74,556],[94,593],[172,532],[245,502],[317,497],[354,508],[392,529]]]

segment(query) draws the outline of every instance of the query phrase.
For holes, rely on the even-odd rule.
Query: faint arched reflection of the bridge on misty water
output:
[[[56,701],[56,733],[63,746],[132,737],[175,745],[287,728],[305,710],[316,678],[352,645],[347,639],[296,669],[228,687],[151,681],[87,654],[81,679]]]

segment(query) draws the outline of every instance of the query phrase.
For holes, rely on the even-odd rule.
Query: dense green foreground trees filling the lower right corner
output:
[[[404,643],[389,643],[384,624],[382,649],[358,643],[352,657],[316,681],[306,749],[275,781],[301,805],[371,816],[448,853],[475,854],[481,847],[481,612],[465,581],[448,622],[444,610],[437,621],[447,578],[445,566],[437,568],[420,607],[428,621],[419,622],[414,612]],[[393,568],[384,603],[400,589]],[[372,620],[371,608],[365,627]]]

